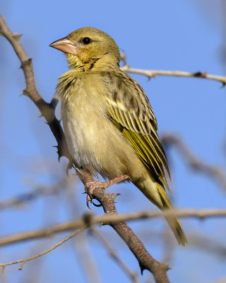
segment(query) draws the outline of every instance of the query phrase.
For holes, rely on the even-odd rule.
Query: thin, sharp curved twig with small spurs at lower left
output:
[[[21,264],[20,264],[19,270],[22,270],[23,265],[25,265],[25,263],[28,262],[29,260],[34,260],[35,258],[40,258],[42,255],[46,255],[47,253],[51,252],[55,248],[61,246],[66,241],[69,241],[71,238],[76,236],[78,233],[81,233],[82,231],[84,231],[86,228],[87,228],[87,226],[84,226],[83,228],[81,228],[78,231],[72,233],[71,235],[67,236],[63,240],[59,241],[54,246],[48,248],[47,250],[44,250],[42,253],[38,253],[37,255],[32,255],[30,258],[23,258],[22,260],[15,260],[15,261],[12,261],[12,262],[0,263],[1,272],[4,272],[6,266],[8,266],[8,265],[16,265],[16,264],[18,264],[20,262],[21,262]]]

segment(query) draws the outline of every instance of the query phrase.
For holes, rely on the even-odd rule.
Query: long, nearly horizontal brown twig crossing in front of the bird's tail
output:
[[[89,219],[89,225],[93,225],[96,223],[109,224],[110,222],[149,219],[166,215],[179,216],[180,218],[194,217],[198,219],[205,219],[210,217],[225,217],[226,209],[174,209],[169,211],[165,210],[164,212],[145,211],[133,212],[129,214],[104,214],[101,216],[85,215],[81,218],[76,219],[75,221],[64,222],[61,224],[50,226],[48,228],[26,231],[22,233],[13,233],[11,235],[2,236],[0,237],[0,246],[8,245],[11,243],[18,243],[22,241],[28,241],[36,238],[51,237],[55,233],[71,231],[74,229],[81,229],[87,223],[87,218]]]

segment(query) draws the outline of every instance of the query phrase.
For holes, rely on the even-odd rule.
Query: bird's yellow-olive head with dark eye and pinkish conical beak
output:
[[[97,28],[79,28],[49,46],[66,54],[71,69],[119,67],[119,47],[112,37]]]

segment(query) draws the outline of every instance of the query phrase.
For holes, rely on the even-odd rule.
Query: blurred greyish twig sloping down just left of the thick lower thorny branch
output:
[[[95,236],[95,238],[97,238],[105,246],[109,255],[117,262],[119,267],[121,267],[121,269],[124,270],[126,275],[128,275],[129,278],[131,278],[131,281],[133,283],[138,283],[138,277],[137,277],[136,273],[132,272],[129,269],[129,267],[125,264],[125,262],[123,260],[121,260],[119,255],[117,255],[117,253],[112,248],[112,246],[109,244],[109,242],[106,240],[106,238],[103,237],[101,233],[97,232],[97,230],[94,229],[93,227],[92,227],[92,229],[90,229],[90,232],[92,233],[93,236]]]

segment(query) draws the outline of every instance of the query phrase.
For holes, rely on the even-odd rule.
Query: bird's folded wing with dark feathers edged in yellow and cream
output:
[[[170,180],[165,151],[157,135],[157,121],[143,88],[121,72],[112,79],[112,93],[107,98],[108,115],[130,142],[141,161],[165,187],[165,172]]]

